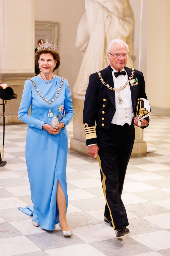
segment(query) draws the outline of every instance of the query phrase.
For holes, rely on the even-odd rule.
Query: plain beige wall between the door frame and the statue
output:
[[[84,12],[84,0],[35,0],[35,21],[59,23],[58,51],[61,60],[58,75],[68,79],[71,92],[83,59],[75,47],[75,40]]]

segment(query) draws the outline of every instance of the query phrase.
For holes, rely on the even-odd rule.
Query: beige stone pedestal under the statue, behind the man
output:
[[[80,95],[81,97],[81,95]],[[74,122],[73,122],[73,138],[70,139],[70,149],[81,154],[88,154],[86,139],[83,125],[83,105],[84,96],[82,98],[74,98]],[[131,155],[146,154],[147,144],[143,141],[143,129],[135,127],[135,142]]]

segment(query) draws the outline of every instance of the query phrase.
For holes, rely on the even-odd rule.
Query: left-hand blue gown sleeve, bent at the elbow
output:
[[[19,107],[18,117],[19,117],[20,121],[22,121],[26,124],[33,126],[35,128],[38,128],[38,129],[42,129],[42,126],[45,122],[28,115],[28,111],[29,111],[31,102],[32,102],[31,87],[30,87],[29,81],[26,80],[20,107]]]

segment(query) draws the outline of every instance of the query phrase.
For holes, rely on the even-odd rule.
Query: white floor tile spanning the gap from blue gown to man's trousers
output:
[[[95,178],[68,180],[68,182],[79,188],[91,188],[101,186],[101,181]]]

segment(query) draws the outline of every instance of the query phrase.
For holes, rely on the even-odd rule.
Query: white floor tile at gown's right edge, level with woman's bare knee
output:
[[[86,199],[96,197],[95,195],[83,190],[83,189],[73,189],[68,190],[68,198],[69,201],[71,200],[78,200],[78,199]]]

